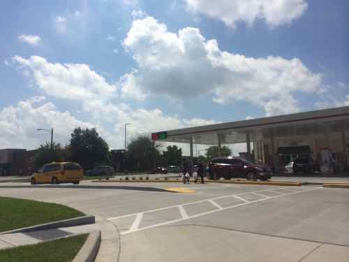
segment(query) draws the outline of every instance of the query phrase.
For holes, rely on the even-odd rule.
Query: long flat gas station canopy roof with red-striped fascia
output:
[[[263,136],[268,136],[270,129],[274,129],[276,134],[287,133],[285,129],[290,126],[297,129],[296,133],[317,133],[319,124],[340,120],[349,120],[349,106],[161,131],[152,133],[152,139],[172,143],[192,141],[201,145],[217,145],[219,135],[221,144],[246,143],[247,134],[253,140],[260,132]]]

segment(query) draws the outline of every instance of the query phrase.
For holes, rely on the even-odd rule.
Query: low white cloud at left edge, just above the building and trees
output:
[[[58,110],[53,103],[45,101],[45,96],[34,96],[0,110],[0,148],[32,149],[50,140],[50,134],[40,133],[38,128],[53,128],[54,141],[65,145],[78,126],[95,127],[76,119],[67,110]]]

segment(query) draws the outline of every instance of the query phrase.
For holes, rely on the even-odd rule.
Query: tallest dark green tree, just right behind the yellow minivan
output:
[[[70,138],[71,159],[88,170],[100,164],[109,164],[109,147],[96,129],[74,129]]]

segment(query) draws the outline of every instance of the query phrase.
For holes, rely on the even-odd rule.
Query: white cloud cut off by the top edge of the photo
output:
[[[186,0],[189,10],[221,20],[235,28],[237,22],[251,26],[264,20],[270,27],[290,24],[308,8],[306,0]]]

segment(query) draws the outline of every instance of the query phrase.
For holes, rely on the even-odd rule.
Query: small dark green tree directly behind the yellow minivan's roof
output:
[[[53,143],[53,150],[51,150],[50,143],[40,145],[36,150],[34,155],[34,168],[36,169],[45,163],[64,161],[64,149],[59,143]]]

